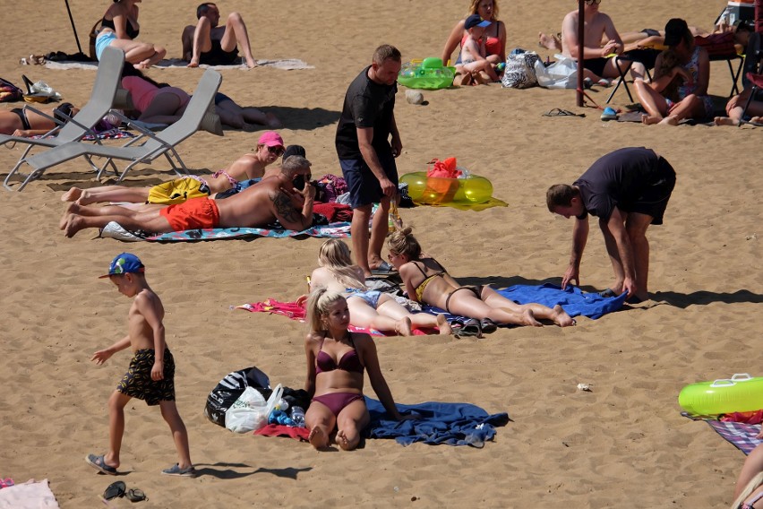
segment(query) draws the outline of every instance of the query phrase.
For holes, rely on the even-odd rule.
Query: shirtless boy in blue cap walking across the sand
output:
[[[149,406],[159,405],[161,416],[167,421],[175,440],[179,461],[161,473],[193,477],[196,470],[191,463],[188,433],[175,405],[175,361],[164,338],[164,306],[150,289],[144,272],[137,256],[123,253],[116,255],[108,273],[100,276],[110,279],[120,293],[133,298],[133,306],[127,314],[127,335],[107,349],[95,352],[90,360],[103,364],[116,352],[128,347],[133,349],[133,359],[108,399],[108,453],[88,454],[85,461],[102,473],[116,475],[124,435],[124,406],[132,398],[138,398]]]

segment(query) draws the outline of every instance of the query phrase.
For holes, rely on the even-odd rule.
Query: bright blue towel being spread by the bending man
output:
[[[597,293],[584,293],[578,287],[568,286],[562,289],[551,283],[535,286],[514,285],[496,291],[519,304],[537,302],[549,307],[561,304],[568,315],[573,317],[583,315],[593,320],[620,309],[628,295],[623,293],[618,297],[602,297]]]

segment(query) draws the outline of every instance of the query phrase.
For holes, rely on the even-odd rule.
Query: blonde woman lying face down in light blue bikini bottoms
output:
[[[349,247],[339,238],[330,238],[318,252],[318,264],[310,277],[310,289],[325,287],[347,298],[351,324],[381,332],[412,334],[414,327],[438,327],[441,334],[450,334],[444,315],[410,313],[389,293],[368,289],[363,269],[352,264]]]

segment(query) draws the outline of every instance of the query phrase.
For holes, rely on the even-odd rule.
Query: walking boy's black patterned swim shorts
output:
[[[175,359],[169,349],[164,350],[164,378],[155,381],[151,379],[155,358],[154,349],[136,351],[116,390],[146,401],[149,406],[158,405],[159,401],[175,401]]]

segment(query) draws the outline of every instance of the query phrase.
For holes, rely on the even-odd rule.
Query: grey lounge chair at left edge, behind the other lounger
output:
[[[108,113],[108,110],[112,108],[115,102],[116,92],[121,82],[123,65],[124,51],[116,47],[107,47],[99,63],[98,73],[96,74],[93,91],[90,93],[88,103],[68,122],[58,125],[42,138],[21,138],[0,134],[0,145],[9,142],[27,145],[16,166],[5,177],[4,186],[6,189],[13,191],[11,178],[14,175],[24,178],[21,185],[18,186],[19,191],[33,178],[32,174],[24,175],[19,172],[19,168],[26,162],[27,155],[32,148],[36,146],[57,147],[68,142],[78,142],[87,134],[94,134],[92,127],[100,122],[101,118]]]

